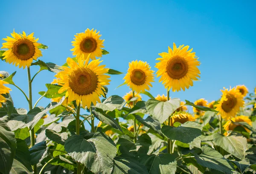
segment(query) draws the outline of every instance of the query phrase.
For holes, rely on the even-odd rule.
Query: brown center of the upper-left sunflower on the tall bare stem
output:
[[[26,61],[35,54],[35,46],[29,39],[22,38],[13,44],[12,52],[18,59]]]

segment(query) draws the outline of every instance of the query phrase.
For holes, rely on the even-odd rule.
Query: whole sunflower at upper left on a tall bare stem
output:
[[[26,35],[18,34],[13,30],[11,33],[12,38],[8,37],[3,38],[6,42],[3,43],[2,48],[7,48],[8,50],[3,53],[3,59],[6,60],[9,64],[15,64],[15,66],[29,67],[34,60],[37,60],[38,57],[42,56],[42,52],[38,49],[39,44],[38,38],[34,37],[34,33]]]

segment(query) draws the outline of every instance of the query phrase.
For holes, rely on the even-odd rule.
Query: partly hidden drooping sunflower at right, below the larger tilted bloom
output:
[[[252,121],[248,118],[248,116],[236,116],[231,119],[233,122],[247,122],[248,125],[252,125]],[[233,124],[230,120],[223,125],[224,130],[226,131],[233,131],[238,125]],[[249,129],[244,128],[245,131],[250,132]],[[225,133],[227,135],[227,133]]]

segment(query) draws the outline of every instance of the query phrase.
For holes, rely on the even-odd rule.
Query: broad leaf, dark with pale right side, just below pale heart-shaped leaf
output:
[[[175,139],[201,148],[202,126],[197,122],[185,122],[177,128],[163,126],[161,130],[169,139]]]

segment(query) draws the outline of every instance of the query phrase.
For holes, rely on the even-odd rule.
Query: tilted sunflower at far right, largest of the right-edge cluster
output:
[[[218,104],[215,105],[217,111],[221,114],[223,119],[230,119],[236,116],[240,107],[243,107],[244,100],[243,96],[235,88],[230,88],[230,90],[221,90],[222,96]]]

